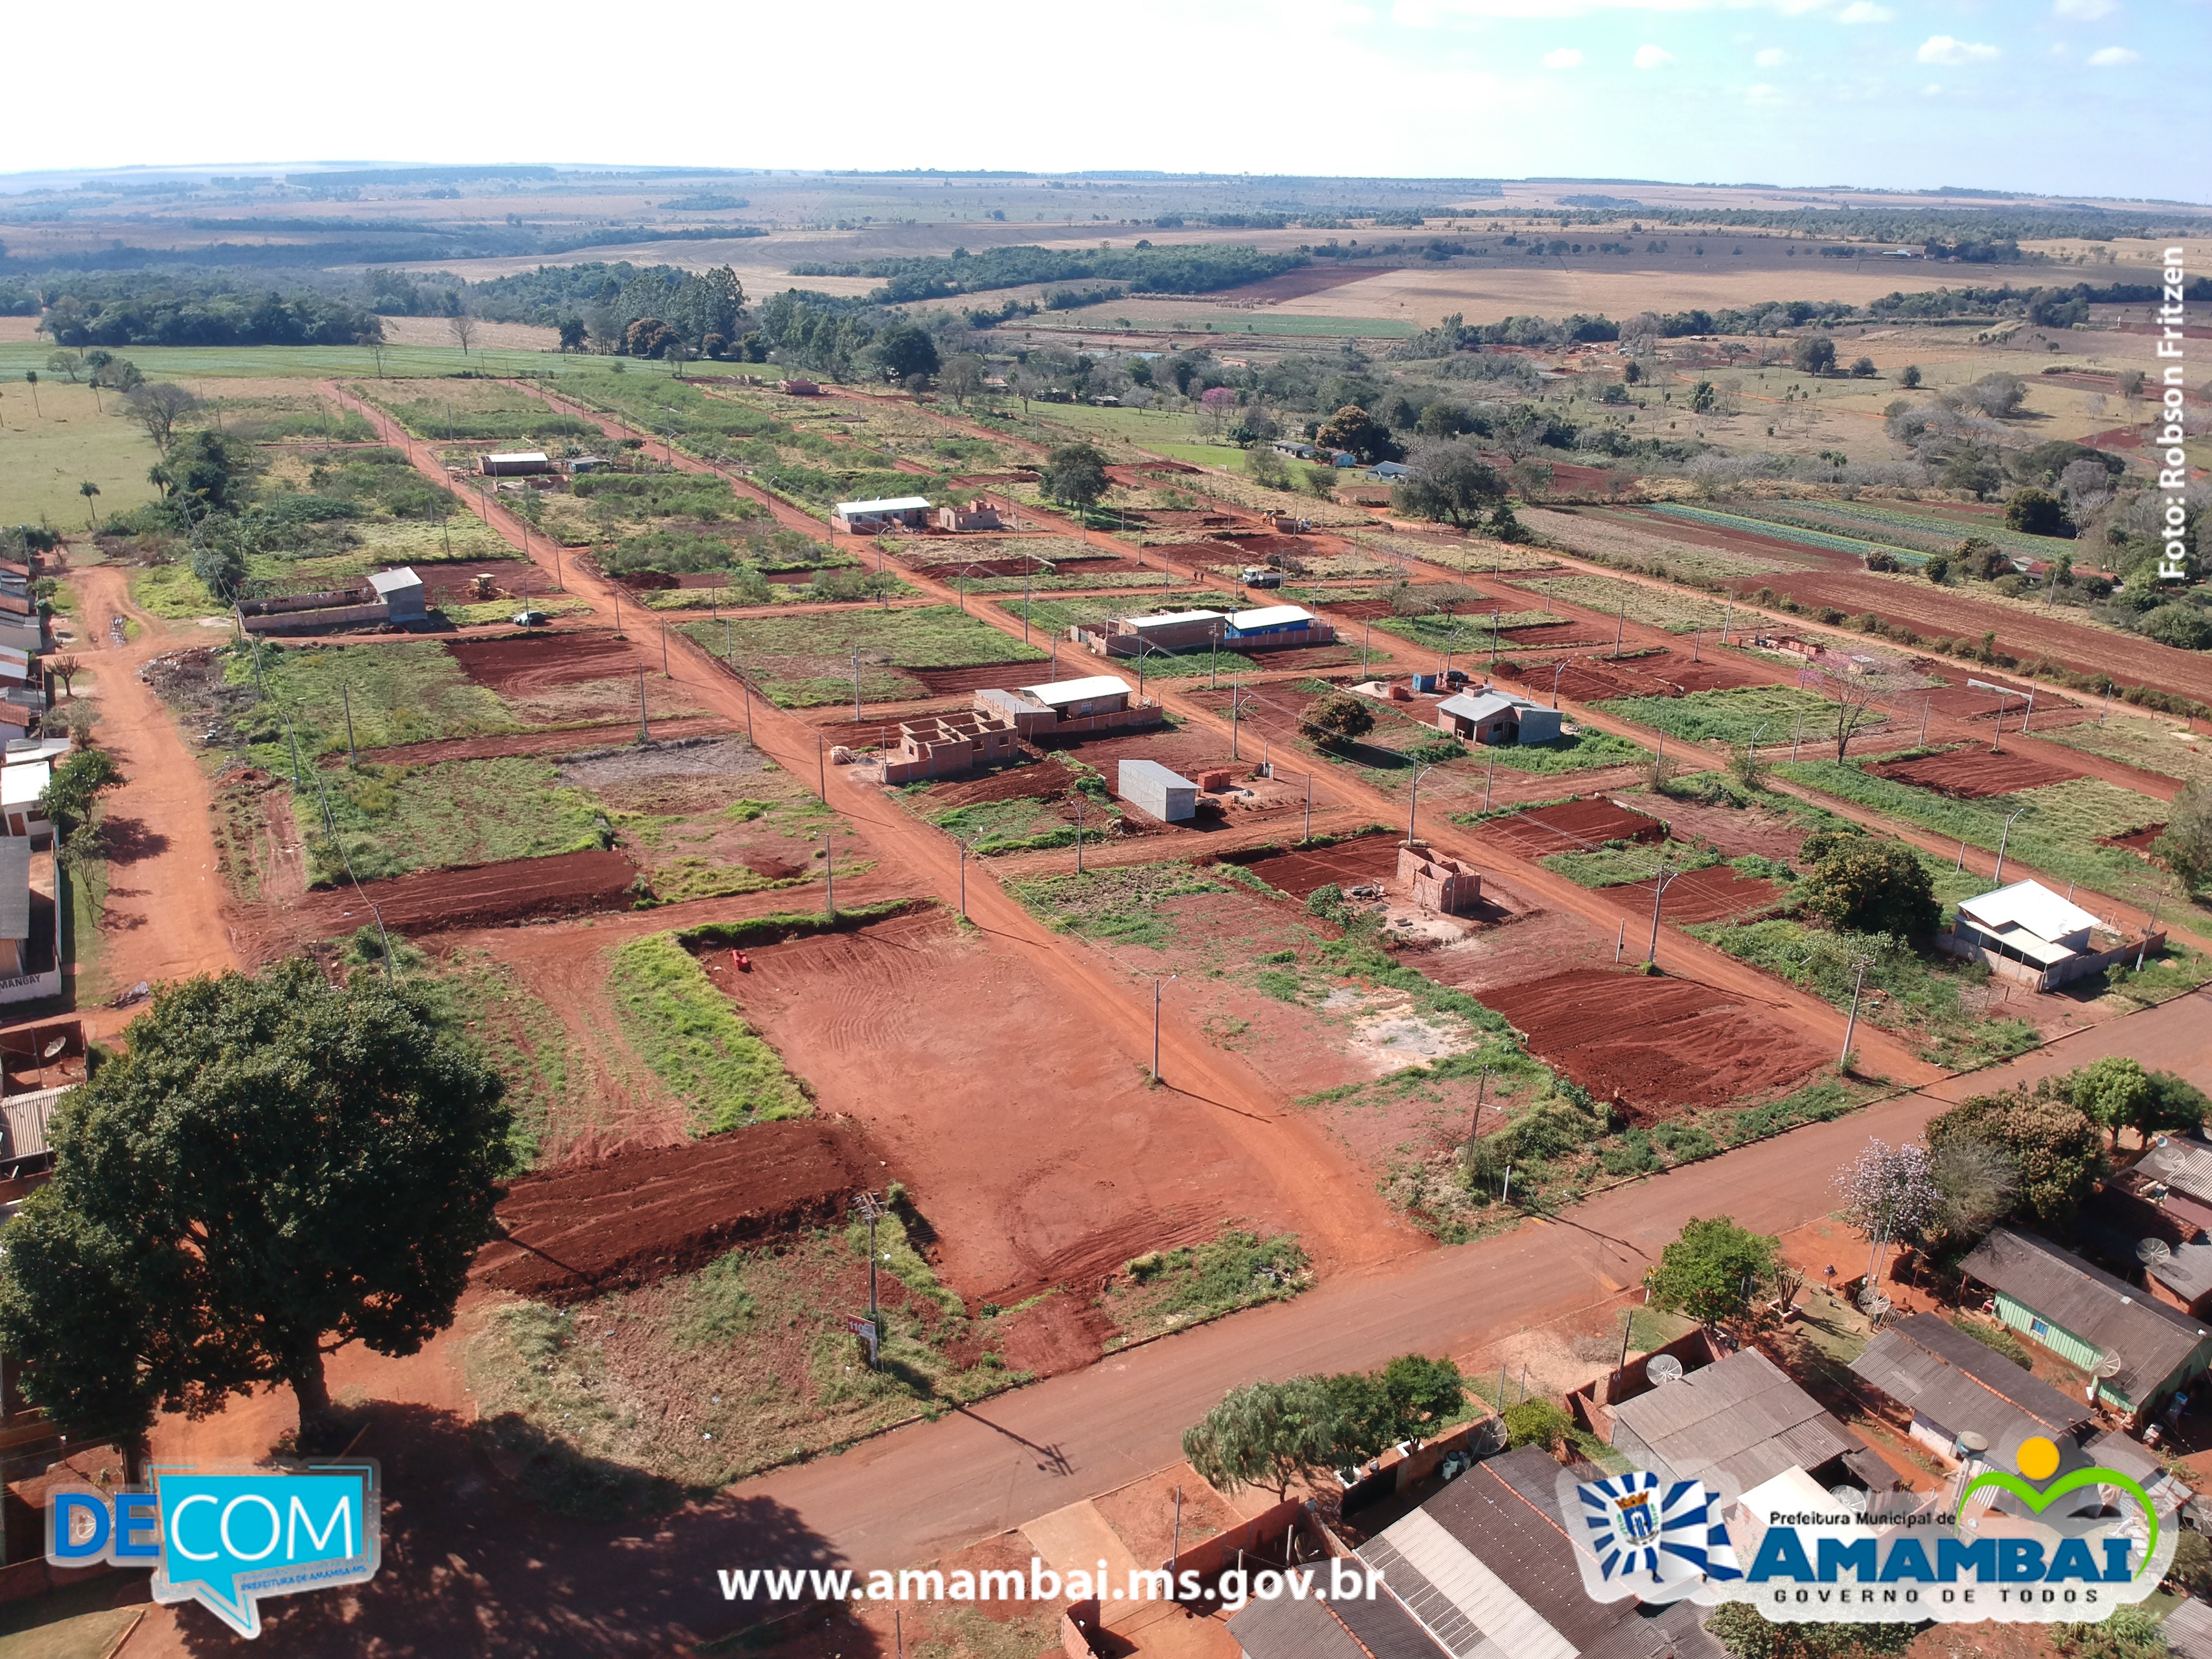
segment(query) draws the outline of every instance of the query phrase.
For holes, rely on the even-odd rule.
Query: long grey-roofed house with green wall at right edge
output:
[[[2143,1422],[2212,1367],[2212,1327],[2048,1239],[1997,1228],[1964,1261],[1997,1318],[2097,1378],[2097,1402]]]

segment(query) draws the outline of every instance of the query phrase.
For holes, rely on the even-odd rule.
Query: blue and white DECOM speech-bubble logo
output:
[[[376,1462],[157,1467],[153,1491],[62,1486],[46,1509],[46,1559],[150,1566],[155,1601],[199,1601],[241,1637],[259,1637],[261,1597],[376,1577]]]

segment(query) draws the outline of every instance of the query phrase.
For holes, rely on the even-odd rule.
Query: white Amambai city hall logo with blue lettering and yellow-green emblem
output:
[[[1601,1601],[1747,1601],[1778,1621],[2097,1621],[2157,1590],[2174,1531],[2130,1475],[2059,1473],[2039,1436],[2011,1462],[1969,1462],[1955,1493],[1889,1493],[1867,1511],[1803,1480],[1801,1498],[1774,1480],[1723,1502],[1648,1473],[1566,1475],[1559,1511]]]

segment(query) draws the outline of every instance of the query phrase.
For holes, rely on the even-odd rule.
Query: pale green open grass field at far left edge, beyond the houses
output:
[[[0,345],[0,352],[15,347]],[[13,367],[13,365],[11,365]],[[0,524],[51,524],[84,529],[84,495],[77,484],[100,484],[93,500],[100,518],[126,513],[155,500],[146,469],[155,465],[153,440],[122,411],[113,392],[93,403],[88,385],[46,376],[46,354],[38,398],[20,376],[0,383]]]

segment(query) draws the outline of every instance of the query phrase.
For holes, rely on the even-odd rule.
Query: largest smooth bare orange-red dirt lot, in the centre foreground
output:
[[[1283,1228],[1219,1119],[1148,1088],[1024,953],[931,911],[765,947],[726,989],[909,1183],[971,1298],[1097,1285],[1225,1217]]]

